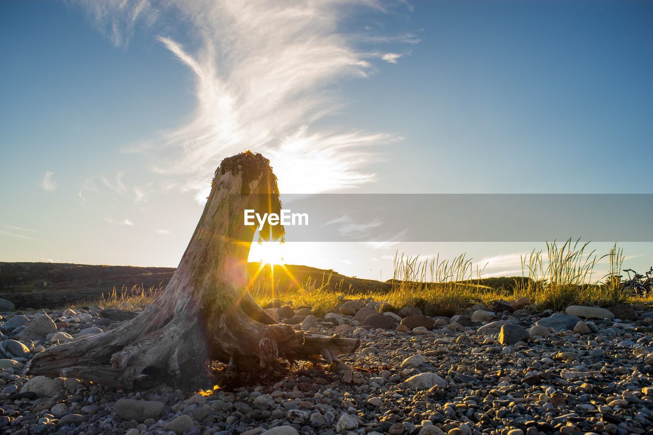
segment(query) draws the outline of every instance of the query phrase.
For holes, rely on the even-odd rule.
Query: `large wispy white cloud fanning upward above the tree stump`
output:
[[[217,163],[246,149],[270,158],[281,191],[318,193],[375,180],[365,169],[380,158],[371,147],[400,140],[388,133],[320,129],[315,121],[347,104],[334,83],[373,74],[372,57],[396,63],[402,56],[370,54],[361,44],[417,42],[412,35],[343,31],[353,6],[377,13],[411,10],[404,1],[75,3],[116,45],[124,46],[139,24],[153,29],[193,72],[197,107],[191,121],[142,152],[154,157],[155,172],[183,176],[182,189],[195,192],[199,202],[206,201]],[[189,37],[174,37],[182,33]]]

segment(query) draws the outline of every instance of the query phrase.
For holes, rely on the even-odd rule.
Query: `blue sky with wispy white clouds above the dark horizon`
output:
[[[5,0],[0,261],[176,266],[246,149],[282,198],[653,193],[652,42],[646,1]],[[291,234],[286,263],[383,280],[396,252],[500,276],[546,249]],[[643,238],[590,246],[643,272]]]

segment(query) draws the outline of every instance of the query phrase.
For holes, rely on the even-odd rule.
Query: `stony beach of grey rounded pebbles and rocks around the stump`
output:
[[[27,378],[48,346],[113,329],[138,310],[0,304],[3,434],[653,434],[653,306],[477,304],[453,317],[344,300],[316,317],[268,313],[307,333],[360,338],[334,370],[301,364],[272,385],[197,394]]]

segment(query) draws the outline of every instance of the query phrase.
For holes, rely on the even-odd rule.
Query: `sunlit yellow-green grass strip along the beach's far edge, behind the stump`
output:
[[[426,315],[448,315],[461,312],[477,302],[489,305],[500,298],[515,300],[528,297],[538,310],[550,308],[564,310],[569,305],[611,306],[631,302],[653,302],[653,297],[635,299],[620,291],[618,272],[622,268],[624,253],[616,244],[611,251],[597,258],[596,251],[588,249],[589,243],[568,239],[559,246],[547,242],[546,253],[533,250],[522,257],[522,276],[511,278],[483,278],[483,268],[473,266],[463,253],[452,260],[420,259],[396,253],[391,287],[381,291],[351,293],[345,285],[328,285],[332,271],[325,271],[321,283],[307,280],[299,285],[282,287],[279,282],[259,281],[249,289],[261,306],[272,300],[281,303],[293,301],[293,306],[310,306],[316,315],[336,311],[343,295],[347,298],[370,298],[385,302],[382,310],[398,310],[404,306],[417,306]],[[597,263],[608,260],[608,273],[597,277]],[[163,292],[165,287],[142,286],[120,291],[82,305],[104,308],[144,308]]]

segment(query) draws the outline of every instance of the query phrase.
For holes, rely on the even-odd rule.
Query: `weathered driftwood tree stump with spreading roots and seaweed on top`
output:
[[[244,225],[244,210],[279,213],[280,208],[267,159],[251,152],[224,159],[164,293],[114,330],[37,354],[27,374],[132,388],[146,372],[179,378],[216,360],[255,373],[276,370],[284,359],[332,362],[338,353],[353,352],[360,340],[273,325],[249,295],[245,270],[256,227]],[[283,227],[264,227],[261,236],[283,236]]]

